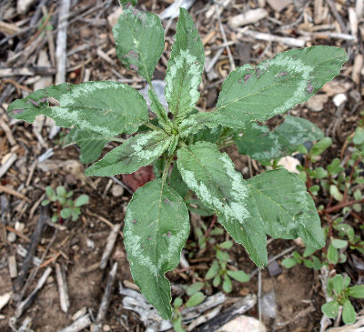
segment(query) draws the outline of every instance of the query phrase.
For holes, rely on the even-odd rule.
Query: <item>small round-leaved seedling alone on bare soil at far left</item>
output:
[[[76,200],[71,199],[74,193],[72,191],[67,192],[64,186],[57,186],[56,192],[52,186],[47,186],[45,194],[47,199],[42,202],[42,206],[48,206],[53,203],[52,221],[54,223],[57,221],[63,222],[63,220],[68,218],[76,221],[81,214],[80,206],[88,203],[87,195],[78,196]]]

